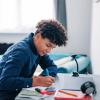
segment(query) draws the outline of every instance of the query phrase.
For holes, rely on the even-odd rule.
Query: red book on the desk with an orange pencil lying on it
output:
[[[92,100],[92,96],[86,96],[81,91],[60,90],[55,93],[54,100]]]

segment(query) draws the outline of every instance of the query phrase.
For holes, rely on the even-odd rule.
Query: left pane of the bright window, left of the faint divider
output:
[[[16,28],[17,0],[0,0],[0,32]]]

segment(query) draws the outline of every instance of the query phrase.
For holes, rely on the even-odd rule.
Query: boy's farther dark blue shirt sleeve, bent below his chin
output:
[[[42,56],[39,64],[43,70],[48,69],[50,76],[55,77],[57,75],[57,66],[53,60],[50,59],[49,55]]]

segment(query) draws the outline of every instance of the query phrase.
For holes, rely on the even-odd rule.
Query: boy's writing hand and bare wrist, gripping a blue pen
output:
[[[55,78],[52,76],[33,76],[32,86],[50,86],[54,83]]]

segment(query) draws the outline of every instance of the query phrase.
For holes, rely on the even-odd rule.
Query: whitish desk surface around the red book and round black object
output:
[[[96,85],[97,94],[93,97],[93,100],[100,100],[100,76],[98,75],[80,75],[79,77],[73,77],[71,74],[58,74],[56,82],[53,84],[53,87],[56,89],[71,89],[71,90],[80,90],[81,85],[86,81],[92,81]],[[20,96],[16,97],[15,100],[23,100]],[[24,100],[40,100],[40,98],[24,98]],[[53,95],[48,96],[45,99],[41,100],[54,100]]]

